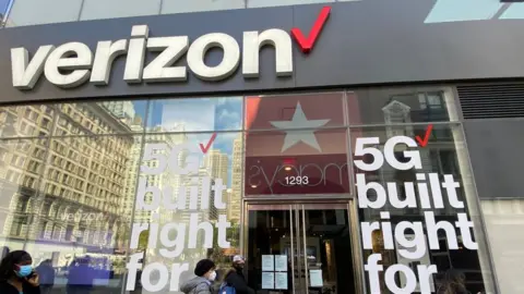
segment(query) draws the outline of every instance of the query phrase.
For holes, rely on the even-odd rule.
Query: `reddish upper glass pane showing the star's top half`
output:
[[[324,128],[344,125],[343,94],[250,96],[246,130]]]

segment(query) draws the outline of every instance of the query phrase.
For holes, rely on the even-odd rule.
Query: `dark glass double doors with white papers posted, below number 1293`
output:
[[[347,204],[248,205],[247,274],[259,294],[355,293]]]

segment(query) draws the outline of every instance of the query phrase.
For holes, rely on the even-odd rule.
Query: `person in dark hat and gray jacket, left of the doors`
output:
[[[212,294],[212,285],[216,279],[215,269],[215,262],[212,260],[200,260],[194,267],[194,274],[196,277],[180,285],[180,291],[186,294]]]

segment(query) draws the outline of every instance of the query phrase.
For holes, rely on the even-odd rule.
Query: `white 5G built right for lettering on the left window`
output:
[[[183,152],[183,157],[181,157]],[[176,187],[167,184],[164,187],[147,183],[147,176],[139,179],[136,194],[136,209],[151,211],[151,219],[144,223],[133,223],[131,232],[131,249],[136,249],[147,241],[147,249],[158,248],[162,257],[169,259],[187,260],[184,249],[212,248],[217,244],[222,248],[229,248],[227,230],[231,223],[225,215],[218,216],[218,221],[209,220],[202,212],[207,213],[211,209],[211,192],[214,192],[213,205],[217,209],[227,209],[224,199],[224,189],[227,186],[222,179],[199,176],[193,172],[199,171],[199,157],[191,155],[187,144],[176,145],[168,150],[166,144],[146,145],[141,172],[148,174],[163,174],[166,169],[168,173],[188,174],[182,185]],[[212,184],[213,183],[213,184]],[[174,193],[178,189],[178,193]],[[188,195],[189,194],[189,195]],[[189,197],[189,208],[187,207]],[[196,210],[189,215],[189,223],[164,222],[160,218],[163,210]],[[91,213],[90,213],[91,215]],[[216,229],[216,232],[215,232]],[[201,237],[199,237],[201,233]],[[216,243],[215,243],[216,233]],[[146,240],[145,240],[146,238]],[[156,250],[155,250],[156,252]],[[147,292],[169,291],[177,292],[179,289],[180,274],[189,270],[189,262],[172,262],[166,266],[165,262],[151,262],[142,265],[144,254],[131,255],[127,268],[129,270],[126,289],[132,291],[136,284],[138,270],[142,270],[141,283]]]

